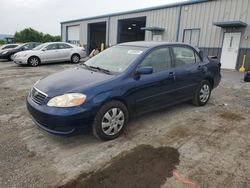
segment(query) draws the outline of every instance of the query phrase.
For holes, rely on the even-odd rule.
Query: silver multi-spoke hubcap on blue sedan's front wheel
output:
[[[108,110],[102,118],[102,131],[109,136],[117,134],[124,125],[124,113],[119,108]]]

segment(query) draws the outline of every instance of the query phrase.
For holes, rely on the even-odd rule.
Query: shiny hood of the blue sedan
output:
[[[35,87],[49,97],[71,92],[83,92],[90,86],[101,84],[115,75],[94,72],[81,67],[66,69],[41,79]]]

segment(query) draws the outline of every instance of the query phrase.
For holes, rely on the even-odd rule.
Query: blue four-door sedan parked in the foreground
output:
[[[52,134],[91,127],[97,138],[111,140],[134,116],[184,101],[205,105],[220,83],[220,66],[186,44],[123,43],[39,80],[27,108]]]

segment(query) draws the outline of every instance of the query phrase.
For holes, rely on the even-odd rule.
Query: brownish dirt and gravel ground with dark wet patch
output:
[[[0,62],[0,187],[250,187],[250,84],[223,71],[205,107],[189,103],[133,119],[103,142],[58,137],[31,121],[25,97],[46,75]]]

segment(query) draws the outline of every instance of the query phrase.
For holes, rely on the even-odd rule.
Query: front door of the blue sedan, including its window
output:
[[[141,75],[136,80],[136,110],[144,113],[166,106],[172,102],[175,84],[170,48],[161,47],[150,52],[140,67],[152,67],[153,73]]]

